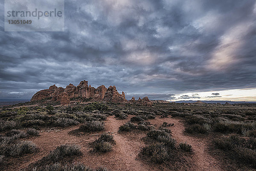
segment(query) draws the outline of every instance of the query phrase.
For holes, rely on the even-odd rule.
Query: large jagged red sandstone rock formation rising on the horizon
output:
[[[104,85],[94,88],[88,85],[88,81],[85,80],[81,81],[78,86],[69,84],[66,88],[57,87],[54,84],[50,86],[49,89],[35,93],[31,101],[52,98],[54,101],[61,101],[61,104],[68,104],[70,99],[76,97],[91,98],[92,101],[127,102],[125,93],[122,92],[122,94],[119,94],[115,86],[110,86],[108,89]]]

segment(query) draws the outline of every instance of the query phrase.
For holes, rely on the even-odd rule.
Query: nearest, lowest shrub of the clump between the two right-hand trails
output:
[[[169,158],[167,148],[161,143],[146,145],[142,148],[141,153],[150,156],[156,163],[162,163]]]

